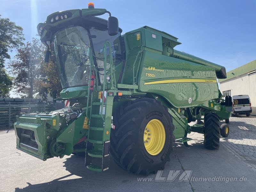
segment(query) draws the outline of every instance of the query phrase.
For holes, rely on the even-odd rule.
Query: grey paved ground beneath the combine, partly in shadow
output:
[[[229,126],[219,150],[205,149],[203,134],[192,133],[189,148],[174,143],[164,171],[148,176],[128,173],[113,160],[100,173],[86,169],[84,158],[74,155],[43,162],[15,148],[14,130],[0,131],[0,191],[255,192],[256,116],[231,117]]]

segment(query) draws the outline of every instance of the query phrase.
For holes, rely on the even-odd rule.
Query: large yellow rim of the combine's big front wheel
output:
[[[164,148],[165,130],[164,125],[158,119],[148,122],[144,130],[144,146],[150,155],[158,155]]]

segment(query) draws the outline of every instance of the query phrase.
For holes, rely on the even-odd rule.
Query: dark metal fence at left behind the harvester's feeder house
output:
[[[13,128],[16,116],[32,112],[49,112],[64,108],[64,103],[0,102],[0,130]]]

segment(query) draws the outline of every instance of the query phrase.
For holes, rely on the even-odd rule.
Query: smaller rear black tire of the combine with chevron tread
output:
[[[204,114],[204,147],[207,149],[220,147],[219,117],[215,113]]]

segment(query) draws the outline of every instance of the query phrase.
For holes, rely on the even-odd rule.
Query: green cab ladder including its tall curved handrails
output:
[[[112,122],[112,107],[114,95],[108,96],[108,91],[105,89],[108,87],[106,82],[106,74],[110,75],[110,82],[108,84],[111,88],[114,88],[116,84],[116,78],[113,68],[113,58],[109,57],[109,69],[107,69],[107,49],[112,52],[111,44],[107,41],[103,47],[104,53],[104,77],[103,84],[101,87],[98,86],[96,75],[96,86],[91,95],[91,108],[89,115],[89,132],[86,140],[86,151],[85,151],[85,166],[92,171],[102,172],[109,169],[109,148],[110,148],[110,131]],[[90,49],[90,58],[92,57],[92,50]],[[92,73],[92,66],[94,66],[93,60],[91,59],[90,76]],[[97,68],[95,68],[97,71]],[[89,81],[89,86],[91,85]],[[86,116],[88,116],[89,109],[89,87],[87,97]]]

